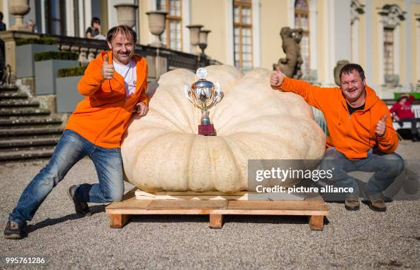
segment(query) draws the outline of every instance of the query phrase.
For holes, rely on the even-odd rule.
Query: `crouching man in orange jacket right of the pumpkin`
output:
[[[342,67],[340,82],[341,88],[321,88],[286,78],[280,71],[270,76],[270,84],[275,89],[297,93],[323,111],[329,134],[320,168],[332,170],[336,187],[353,190],[345,196],[346,209],[360,208],[358,183],[347,175],[358,170],[375,172],[366,185],[366,194],[371,209],[384,212],[382,191],[404,168],[404,161],[394,153],[398,139],[388,107],[366,85],[360,65]]]

